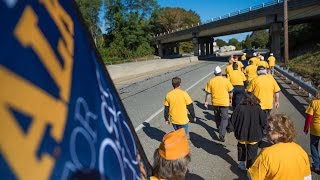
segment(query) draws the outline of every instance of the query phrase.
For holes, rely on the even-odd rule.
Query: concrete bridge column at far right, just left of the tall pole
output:
[[[281,60],[281,46],[280,46],[280,35],[281,35],[281,23],[273,23],[270,27],[271,36],[271,52],[274,57],[279,61]]]

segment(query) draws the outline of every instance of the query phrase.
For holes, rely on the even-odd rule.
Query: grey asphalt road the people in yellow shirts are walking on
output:
[[[196,123],[189,125],[192,161],[187,179],[246,179],[246,172],[237,167],[236,139],[231,133],[227,134],[225,142],[218,141],[213,111],[203,106],[203,88],[213,77],[213,70],[217,65],[225,67],[226,62],[201,61],[158,75],[146,76],[143,80],[127,82],[125,86],[116,84],[150,163],[153,162],[153,152],[163,135],[173,130],[171,125],[164,123],[163,101],[166,93],[172,89],[171,79],[179,76],[182,79],[182,89],[187,90],[191,96],[198,117]],[[303,110],[307,103],[281,79],[277,80],[282,89],[277,112],[286,113],[294,120],[297,143],[310,154],[309,136],[302,131]],[[313,179],[319,179],[318,175],[312,175]]]

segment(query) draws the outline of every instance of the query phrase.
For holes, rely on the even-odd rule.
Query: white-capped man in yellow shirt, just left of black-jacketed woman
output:
[[[215,120],[220,123],[219,139],[224,142],[226,128],[228,126],[228,110],[232,104],[232,90],[233,86],[230,81],[221,74],[220,66],[214,70],[215,77],[210,79],[205,87],[204,106],[208,109],[208,99],[211,95],[211,103],[213,105]]]

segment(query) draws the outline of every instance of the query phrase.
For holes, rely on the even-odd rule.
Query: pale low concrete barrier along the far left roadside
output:
[[[164,70],[178,65],[198,61],[197,56],[182,57],[177,59],[156,59],[141,62],[131,62],[117,65],[108,65],[107,70],[112,80],[137,76],[140,74]]]

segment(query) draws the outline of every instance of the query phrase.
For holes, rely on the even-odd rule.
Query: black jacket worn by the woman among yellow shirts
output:
[[[237,140],[259,142],[266,128],[266,118],[259,105],[238,105],[230,118],[228,131],[234,131]]]

